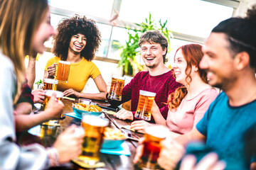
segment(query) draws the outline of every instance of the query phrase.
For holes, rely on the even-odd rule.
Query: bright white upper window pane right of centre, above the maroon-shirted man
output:
[[[119,17],[142,23],[149,12],[155,21],[167,20],[169,30],[207,38],[214,26],[232,16],[233,8],[200,0],[122,0]]]

